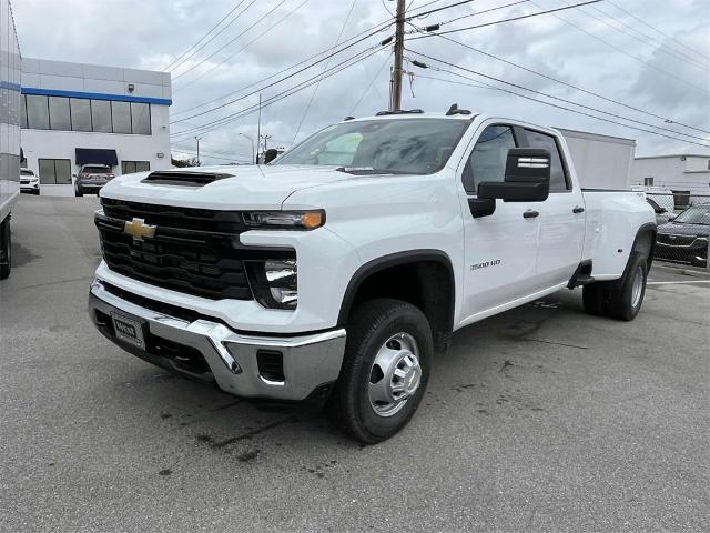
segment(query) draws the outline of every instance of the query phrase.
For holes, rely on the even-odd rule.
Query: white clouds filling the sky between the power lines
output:
[[[216,53],[210,61],[200,64],[192,72],[176,79],[174,81],[175,92],[172,110],[174,117],[185,117],[185,114],[178,114],[178,112],[253,83],[333,46],[339,33],[343,20],[349,10],[351,1],[310,0],[284,23],[274,28],[244,51],[235,54],[225,64],[216,67],[210,74],[191,83],[192,80],[213,66],[217,66],[248,41],[260,36],[260,32],[276,22],[301,1],[303,0],[287,0],[266,20],[254,26],[242,38],[226,47],[222,52]],[[668,36],[710,57],[708,36],[710,14],[704,9],[707,6],[702,6],[706,2],[701,0],[615,1]],[[217,0],[144,0],[142,2],[132,0],[101,0],[93,2],[87,2],[85,0],[64,0],[62,2],[16,0],[14,10],[22,52],[27,57],[160,70],[200,39],[235,3]],[[247,0],[244,6],[248,3],[250,1]],[[240,32],[250,28],[256,19],[276,3],[276,0],[256,1],[236,22],[206,46],[193,61],[181,67],[173,76],[175,77],[183,72],[191,64],[195,64],[196,61],[202,61],[206,54],[214,52]],[[417,9],[417,3],[423,6],[426,2],[416,0],[415,10]],[[452,3],[452,0],[444,0],[432,6],[432,8],[445,6],[446,3]],[[565,4],[562,0],[536,0],[535,3],[542,9]],[[434,13],[423,20],[417,19],[414,22],[419,26],[432,24],[499,4],[500,2],[494,0],[478,0],[471,4]],[[393,7],[394,4],[389,6]],[[710,66],[710,60],[682,48],[671,39],[653,33],[652,30],[608,2],[599,3],[597,7],[612,14],[616,20],[604,18],[598,11],[594,11],[589,7],[560,13],[561,18],[584,28],[596,36],[597,39],[580,32],[554,16],[453,33],[450,37],[529,69],[548,73],[568,83],[652,111],[661,117],[671,117],[680,122],[710,129],[710,93],[689,87],[655,69],[666,70],[678,78],[704,87],[710,91],[708,70],[698,69],[686,61],[659,51],[657,43],[650,41],[648,44],[639,42],[591,18],[590,14],[604,18],[611,26],[618,27],[620,24],[619,21],[626,22],[636,31],[650,34],[663,42],[666,47],[682,52],[682,54],[691,56],[694,60],[704,62],[704,64]],[[467,18],[449,27],[444,27],[444,29],[471,26],[538,10],[539,8],[532,3],[521,4],[479,17]],[[388,14],[384,10],[381,0],[358,0],[344,38],[364,31],[374,23],[387,19],[387,17]],[[627,28],[625,30],[633,33],[633,30]],[[353,51],[366,46],[374,46],[388,34],[389,32],[378,33],[355,47]],[[638,33],[635,34],[639,37]],[[599,39],[640,58],[652,67],[630,58],[605,44]],[[611,105],[609,102],[561,87],[550,80],[506,66],[439,38],[412,40],[408,46],[413,50],[514,83],[550,92],[561,98],[609,110],[621,115],[632,117],[645,122],[680,130],[677,124],[663,124],[657,119]],[[321,83],[317,97],[298,133],[298,138],[303,138],[306,133],[347,115],[355,102],[363,95],[373,76],[381,70],[388,52],[385,49],[363,63],[325,79]],[[341,58],[344,59],[347,54],[345,52],[335,57],[331,64],[336,64],[342,60]],[[415,54],[408,52],[407,56]],[[320,68],[323,68],[323,66]],[[430,70],[414,70],[425,76],[447,77]],[[266,89],[263,91],[263,98],[270,98],[297,81],[308,76],[314,76],[316,72],[318,72],[317,69],[312,69],[304,72],[300,78],[288,80],[272,89]],[[387,107],[388,76],[389,69],[387,67],[381,70],[373,88],[357,107],[356,114],[373,113]],[[272,144],[288,145],[291,143],[312,91],[313,88],[305,89],[263,110],[262,132],[273,135]],[[414,98],[409,91],[409,83],[406,82],[405,107],[417,107],[428,111],[445,111],[450,103],[457,102],[463,108],[521,117],[531,122],[636,138],[639,141],[638,152],[641,154],[677,150],[710,152],[708,149],[680,141],[555,110],[499,91],[467,88],[423,78],[415,78]],[[252,97],[213,113],[192,119],[190,122],[201,124],[216,120],[254,103],[255,97]],[[250,114],[229,123],[224,128],[210,131],[204,135],[201,149],[209,153],[219,152],[220,154],[234,154],[235,158],[248,159],[251,157],[251,145],[244,137],[236,133],[255,137],[255,122],[256,114]],[[173,132],[184,128],[173,125]],[[689,132],[689,130],[683,131]],[[693,133],[699,134],[698,132]],[[176,145],[182,149],[194,150],[194,140],[183,140],[178,142]],[[210,159],[203,159],[210,161]],[[220,161],[214,160],[214,162]]]

